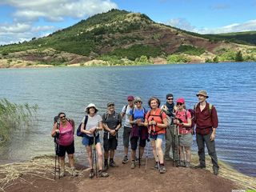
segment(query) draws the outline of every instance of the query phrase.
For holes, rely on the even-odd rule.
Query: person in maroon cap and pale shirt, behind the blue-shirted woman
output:
[[[129,95],[127,97],[127,101],[128,101],[128,104],[126,106],[123,106],[121,111],[121,117],[125,118],[123,132],[122,132],[123,148],[124,148],[124,154],[125,154],[125,156],[122,159],[123,164],[126,164],[127,162],[129,162],[128,148],[129,148],[130,131],[131,131],[130,110],[134,109],[134,96]]]

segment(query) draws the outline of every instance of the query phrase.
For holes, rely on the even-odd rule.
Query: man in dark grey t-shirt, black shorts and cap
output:
[[[107,103],[107,111],[102,115],[102,124],[104,128],[103,148],[104,148],[104,170],[109,167],[108,158],[110,157],[110,166],[117,166],[114,162],[114,150],[118,146],[118,130],[122,126],[121,115],[114,109],[114,102]]]

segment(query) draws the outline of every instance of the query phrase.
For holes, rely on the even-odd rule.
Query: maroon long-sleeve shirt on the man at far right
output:
[[[218,114],[214,106],[210,111],[209,103],[206,102],[206,107],[201,111],[200,104],[195,109],[195,123],[197,134],[210,134],[213,128],[218,127]]]

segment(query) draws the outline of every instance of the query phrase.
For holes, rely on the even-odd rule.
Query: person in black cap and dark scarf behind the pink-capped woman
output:
[[[173,161],[178,161],[178,137],[174,137],[174,113],[177,107],[174,105],[174,95],[166,94],[166,104],[162,105],[162,110],[165,111],[169,117],[169,123],[166,128],[166,148],[165,148],[165,160],[170,161],[170,148],[173,148]]]

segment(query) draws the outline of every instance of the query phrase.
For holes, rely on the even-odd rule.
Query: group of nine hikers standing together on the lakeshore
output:
[[[166,94],[166,103],[162,106],[160,100],[152,97],[148,101],[150,110],[142,106],[142,98],[130,95],[127,97],[127,105],[123,106],[121,113],[115,110],[114,102],[107,103],[106,113],[97,114],[98,108],[90,103],[86,106],[86,115],[82,118],[79,131],[82,133],[82,144],[86,147],[90,166],[90,178],[106,178],[109,174],[106,171],[110,167],[118,166],[114,162],[114,153],[118,146],[118,130],[124,126],[122,131],[124,158],[122,163],[129,162],[128,150],[130,144],[130,168],[136,165],[142,166],[147,163],[149,143],[154,154],[154,169],[160,174],[166,173],[165,161],[173,161],[176,166],[206,168],[205,145],[212,160],[213,171],[218,175],[218,158],[215,151],[214,138],[218,127],[218,114],[216,108],[206,102],[208,95],[206,90],[200,90],[198,103],[193,110],[186,110],[184,98],[178,98],[174,103],[174,95]],[[198,166],[192,166],[191,146],[193,134],[196,134],[198,145]],[[103,149],[99,137],[99,131],[104,130]],[[66,118],[66,114],[58,114],[54,123],[51,136],[55,138],[56,155],[60,159],[59,177],[65,175],[65,154],[68,154],[71,167],[71,174],[77,176],[74,167],[74,121]],[[81,135],[80,135],[81,136]],[[146,142],[147,147],[146,147]],[[162,150],[162,142],[165,143],[165,150]],[[144,149],[146,149],[146,161],[142,161]],[[138,154],[136,150],[138,148]],[[93,154],[93,150],[97,152]],[[170,150],[172,153],[170,153]],[[94,157],[94,158],[93,158]],[[104,162],[103,162],[104,159]],[[94,167],[95,162],[95,167]],[[96,169],[94,169],[96,168]],[[97,171],[98,170],[98,171]],[[56,158],[55,158],[56,171]],[[95,172],[96,171],[96,172]]]

